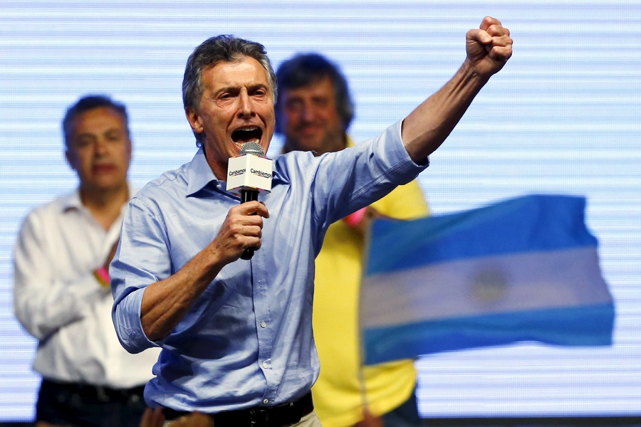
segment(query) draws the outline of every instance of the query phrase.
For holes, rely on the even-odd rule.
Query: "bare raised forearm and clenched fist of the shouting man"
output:
[[[510,31],[486,16],[479,29],[467,32],[466,50],[467,58],[454,77],[403,122],[403,144],[415,162],[440,147],[479,90],[503,68],[512,55]]]

